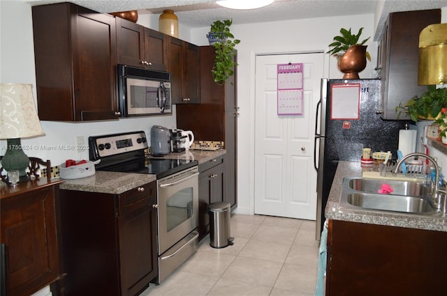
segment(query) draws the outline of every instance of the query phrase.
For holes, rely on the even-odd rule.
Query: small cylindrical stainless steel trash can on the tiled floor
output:
[[[210,246],[221,249],[233,244],[234,238],[230,235],[230,203],[210,203]]]

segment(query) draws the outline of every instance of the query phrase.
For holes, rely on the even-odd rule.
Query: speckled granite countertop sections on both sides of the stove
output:
[[[224,155],[226,150],[188,150],[182,153],[164,155],[165,159],[190,159],[198,164],[208,162],[215,157]],[[64,180],[60,189],[108,194],[122,194],[128,190],[155,181],[156,176],[144,173],[117,173],[110,171],[96,171],[94,176]]]

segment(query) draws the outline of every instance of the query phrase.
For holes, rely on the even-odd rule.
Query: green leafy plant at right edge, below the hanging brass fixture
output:
[[[415,123],[419,119],[436,119],[441,110],[447,107],[447,88],[436,88],[434,85],[427,86],[427,91],[418,97],[415,95],[405,104],[400,102],[396,107],[397,118],[402,112],[409,116]]]

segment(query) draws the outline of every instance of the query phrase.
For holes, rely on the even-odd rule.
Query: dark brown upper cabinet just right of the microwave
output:
[[[168,39],[168,71],[172,74],[173,104],[200,103],[199,47],[174,37]]]

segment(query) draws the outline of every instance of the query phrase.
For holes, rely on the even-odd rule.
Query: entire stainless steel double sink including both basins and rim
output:
[[[379,194],[378,192],[384,188],[383,185],[392,189],[392,192]],[[339,205],[356,210],[432,215],[436,210],[428,193],[429,189],[424,182],[344,178]]]

